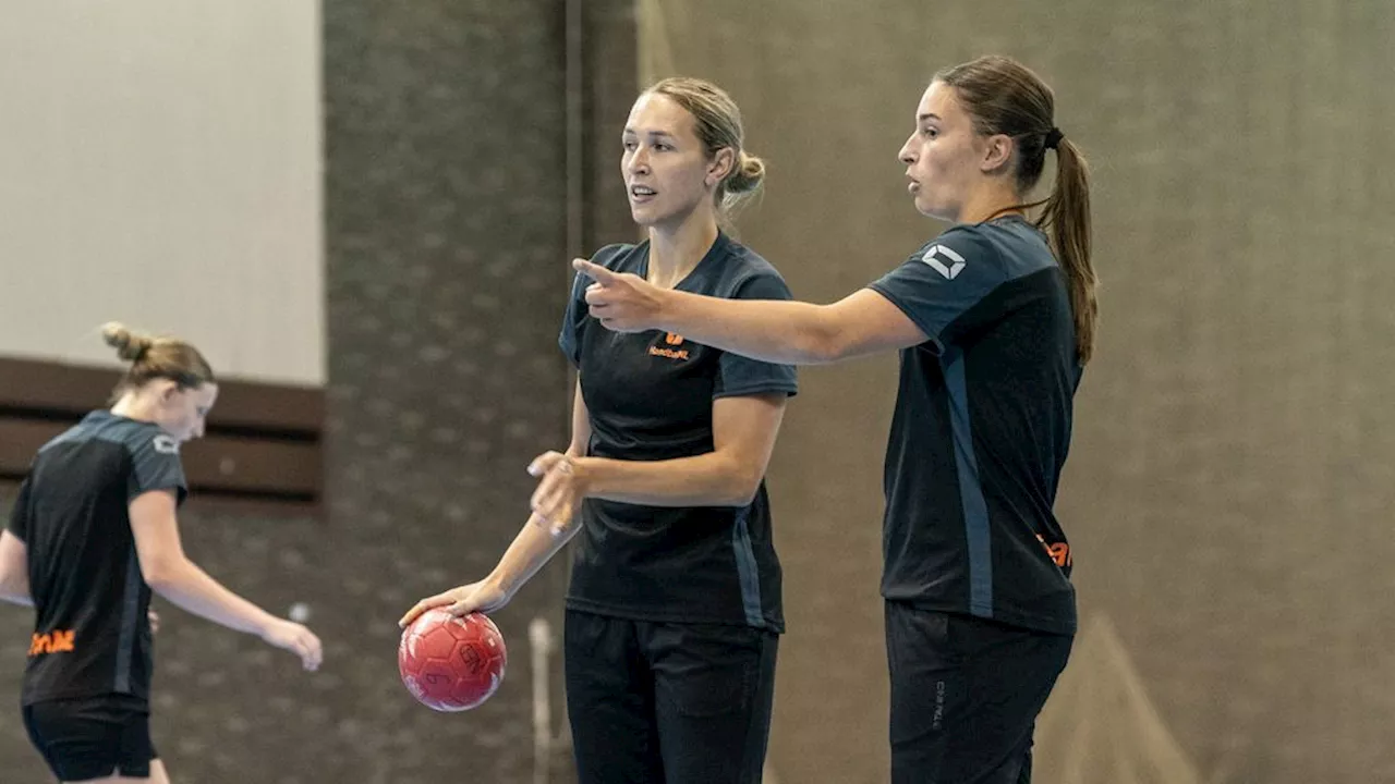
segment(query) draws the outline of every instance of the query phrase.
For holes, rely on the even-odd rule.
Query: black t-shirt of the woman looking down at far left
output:
[[[187,492],[179,444],[158,425],[92,412],[39,449],[10,532],[24,540],[35,628],[22,703],[151,693],[151,589],[131,499]]]

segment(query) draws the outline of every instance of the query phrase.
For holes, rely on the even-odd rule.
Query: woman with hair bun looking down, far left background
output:
[[[310,629],[276,618],[198,568],[174,513],[188,488],[180,445],[204,435],[218,399],[194,346],[103,328],[130,363],[112,407],[46,444],[0,534],[0,600],[35,610],[24,725],[61,781],[169,774],[151,744],[151,591],[319,667]]]

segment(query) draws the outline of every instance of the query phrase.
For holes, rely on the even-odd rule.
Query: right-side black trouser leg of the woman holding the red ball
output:
[[[646,624],[667,784],[759,784],[780,638],[717,624]]]

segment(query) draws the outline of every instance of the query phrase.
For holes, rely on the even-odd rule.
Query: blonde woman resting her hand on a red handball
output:
[[[597,264],[661,290],[788,300],[723,230],[764,166],[716,85],[670,78],[635,102],[621,174],[639,244]],[[780,561],[766,463],[794,368],[692,342],[614,335],[578,276],[559,343],[578,370],[572,442],[540,455],[533,513],[494,572],[417,603],[502,607],[573,536],[562,658],[582,784],[759,784],[778,635]]]

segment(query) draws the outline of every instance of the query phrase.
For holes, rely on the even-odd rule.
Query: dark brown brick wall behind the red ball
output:
[[[188,513],[181,529],[230,587],[276,612],[308,604],[325,667],[306,677],[160,603],[155,742],[180,783],[531,781],[527,624],[558,628],[565,566],[497,615],[508,677],[473,713],[412,700],[396,618],[494,565],[525,520],[525,466],[565,444],[562,7],[324,13],[328,515]],[[0,693],[17,693],[31,618],[0,607]],[[555,730],[555,658],[551,675]],[[550,762],[566,781],[565,749]],[[6,783],[46,780],[13,703],[0,764]]]

